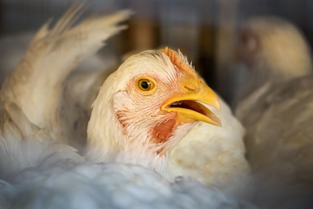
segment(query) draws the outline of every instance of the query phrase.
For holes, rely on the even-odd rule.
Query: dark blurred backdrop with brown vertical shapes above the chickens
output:
[[[0,0],[0,36],[35,31],[49,18],[57,20],[74,0]],[[180,49],[195,69],[227,102],[240,76],[233,51],[239,26],[254,15],[278,15],[293,22],[313,43],[312,0],[102,0],[88,12],[131,8],[129,29],[111,38],[108,48],[125,53],[164,46]],[[29,36],[29,35],[25,35]],[[29,36],[29,39],[31,36]],[[16,41],[16,45],[24,45]],[[0,46],[6,53],[6,45]],[[23,46],[25,47],[25,46]],[[0,54],[0,56],[2,56]],[[2,78],[1,78],[2,79]],[[0,79],[0,80],[1,80]]]

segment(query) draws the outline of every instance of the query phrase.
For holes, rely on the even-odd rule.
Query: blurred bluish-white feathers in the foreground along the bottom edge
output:
[[[256,208],[186,178],[174,183],[131,164],[59,162],[0,186],[7,208]],[[18,176],[17,176],[18,177]],[[6,205],[4,205],[6,203]]]

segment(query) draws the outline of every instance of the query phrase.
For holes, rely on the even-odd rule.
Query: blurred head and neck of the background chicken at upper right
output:
[[[235,102],[242,102],[266,82],[279,85],[312,73],[307,41],[296,26],[279,17],[248,20],[240,30],[235,51],[235,59],[248,68],[248,77],[236,93]]]

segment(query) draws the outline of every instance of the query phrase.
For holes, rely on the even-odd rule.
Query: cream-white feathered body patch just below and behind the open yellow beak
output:
[[[222,127],[202,122],[195,125],[172,150],[168,167],[172,173],[182,173],[209,187],[250,199],[253,186],[243,144],[245,130],[221,98],[220,104],[222,111],[213,111]]]

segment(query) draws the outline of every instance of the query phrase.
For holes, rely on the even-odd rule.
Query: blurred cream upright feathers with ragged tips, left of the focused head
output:
[[[42,26],[0,93],[1,103],[17,104],[31,123],[63,142],[71,131],[60,111],[64,80],[81,59],[92,56],[104,45],[102,41],[125,29],[116,24],[131,14],[124,10],[90,17],[71,28],[82,7],[83,4],[73,6],[51,30],[49,23]]]

